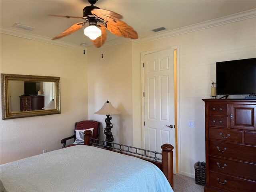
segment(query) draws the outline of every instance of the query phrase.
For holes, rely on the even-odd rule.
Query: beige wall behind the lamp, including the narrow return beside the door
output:
[[[113,54],[114,53],[114,54]],[[100,138],[105,139],[103,130],[106,116],[94,114],[106,100],[120,110],[113,115],[112,134],[114,142],[142,147],[142,106],[140,44],[126,42],[103,48],[91,47],[88,51],[88,105],[89,119],[102,123]]]

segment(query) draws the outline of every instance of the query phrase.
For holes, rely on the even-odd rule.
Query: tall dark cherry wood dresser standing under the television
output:
[[[256,100],[205,102],[204,192],[256,192]]]

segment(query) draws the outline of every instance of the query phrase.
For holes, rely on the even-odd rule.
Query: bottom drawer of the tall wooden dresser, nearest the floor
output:
[[[209,184],[210,186],[215,186],[233,192],[255,192],[256,190],[256,182],[254,181],[211,171],[209,172]]]

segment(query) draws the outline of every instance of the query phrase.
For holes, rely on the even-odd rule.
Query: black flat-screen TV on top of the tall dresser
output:
[[[256,58],[216,62],[217,95],[256,94]]]

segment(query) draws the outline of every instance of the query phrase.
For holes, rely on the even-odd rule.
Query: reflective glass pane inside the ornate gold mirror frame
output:
[[[10,112],[55,109],[54,87],[54,82],[10,80]]]

